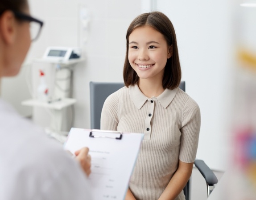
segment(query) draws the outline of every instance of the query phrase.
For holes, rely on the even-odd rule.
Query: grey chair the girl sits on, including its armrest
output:
[[[124,83],[90,82],[91,129],[100,129],[100,116],[104,101],[110,94],[122,87],[124,87]],[[185,92],[185,81],[181,81],[179,88]],[[209,196],[218,179],[203,160],[195,160],[194,165],[206,180],[207,196]],[[186,200],[190,200],[190,180],[183,191]]]

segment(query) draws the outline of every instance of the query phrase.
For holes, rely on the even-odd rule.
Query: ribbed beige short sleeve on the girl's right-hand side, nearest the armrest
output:
[[[182,112],[182,136],[179,159],[185,163],[192,163],[196,158],[198,139],[201,125],[201,115],[198,104],[187,99]]]

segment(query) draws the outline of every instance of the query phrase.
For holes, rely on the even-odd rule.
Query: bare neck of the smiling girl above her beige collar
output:
[[[156,82],[149,79],[140,79],[138,86],[140,91],[149,98],[153,96],[157,97],[165,90],[162,85],[162,80]]]

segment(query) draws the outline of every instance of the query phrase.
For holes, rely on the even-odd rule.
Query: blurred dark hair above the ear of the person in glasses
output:
[[[0,0],[0,14],[5,10],[21,12],[28,7],[29,4],[27,0]]]

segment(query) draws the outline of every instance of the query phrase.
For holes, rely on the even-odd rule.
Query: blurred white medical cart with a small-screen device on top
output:
[[[33,107],[33,121],[45,127],[49,135],[62,136],[73,125],[76,99],[72,98],[72,77],[75,66],[84,61],[80,50],[48,47],[42,58],[33,60],[30,68],[28,86],[32,99],[22,104]]]

